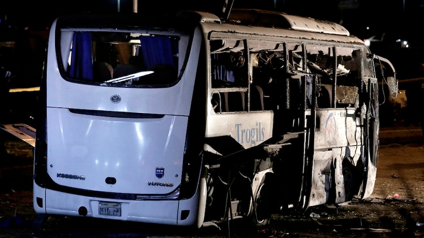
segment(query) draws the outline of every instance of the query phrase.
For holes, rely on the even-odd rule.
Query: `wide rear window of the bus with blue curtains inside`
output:
[[[125,87],[164,87],[178,80],[181,36],[115,31],[62,31],[66,79]],[[186,47],[184,48],[185,51]]]

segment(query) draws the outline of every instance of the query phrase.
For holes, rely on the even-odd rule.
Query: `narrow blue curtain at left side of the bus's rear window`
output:
[[[71,65],[69,76],[76,79],[93,79],[91,59],[91,33],[75,32],[72,40]]]

